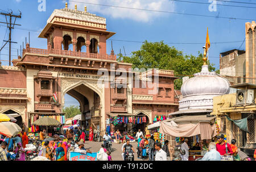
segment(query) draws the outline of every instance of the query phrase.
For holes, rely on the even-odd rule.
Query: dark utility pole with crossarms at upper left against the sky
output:
[[[16,44],[16,42],[12,42],[11,41],[11,30],[14,29],[14,25],[21,26],[20,24],[15,24],[16,18],[21,18],[21,12],[19,11],[19,15],[13,15],[13,11],[11,10],[11,12],[9,12],[8,14],[7,13],[3,13],[3,12],[1,12],[0,14],[1,15],[5,15],[5,19],[6,19],[6,23],[5,22],[0,22],[0,23],[7,24],[7,27],[9,28],[9,40],[7,40],[7,41],[4,40],[4,41],[6,43],[9,42],[9,65],[11,65],[11,43],[15,43]],[[8,23],[7,16],[9,16],[9,18],[10,18],[10,20],[9,20],[10,23]],[[11,23],[11,19],[12,18],[15,18],[14,23]],[[5,45],[3,45],[3,47],[5,47]]]

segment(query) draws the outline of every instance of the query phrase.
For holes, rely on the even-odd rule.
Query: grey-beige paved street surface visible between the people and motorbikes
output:
[[[136,151],[137,149],[137,142],[132,142],[131,145],[133,145],[134,150]],[[96,142],[96,141],[85,141],[85,149],[90,149],[92,152],[98,152],[101,148],[101,142]],[[113,161],[123,161],[122,156],[121,156],[121,148],[122,144],[116,144],[112,143],[112,160]],[[137,158],[137,153],[134,153],[134,160],[135,161],[142,161],[141,159]],[[144,160],[147,161],[147,160]]]

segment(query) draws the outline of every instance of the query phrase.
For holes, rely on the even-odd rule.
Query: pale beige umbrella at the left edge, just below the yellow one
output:
[[[21,131],[22,129],[19,127],[19,125],[15,123],[9,121],[0,123],[0,134],[7,137],[16,136]]]

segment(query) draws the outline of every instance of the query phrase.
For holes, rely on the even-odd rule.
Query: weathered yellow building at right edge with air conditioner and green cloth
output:
[[[256,85],[243,83],[230,86],[236,89],[236,93],[221,95],[213,98],[213,111],[216,115],[220,132],[226,134],[226,140],[237,140],[238,148],[251,155],[256,148]],[[242,131],[232,120],[247,118],[247,127],[250,133]]]

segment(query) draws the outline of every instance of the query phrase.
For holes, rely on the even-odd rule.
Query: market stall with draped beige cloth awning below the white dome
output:
[[[208,143],[218,133],[215,117],[207,115],[184,115],[170,118],[148,125],[148,129],[158,131],[157,136],[162,133],[172,138],[171,142],[175,142],[175,145],[171,146],[175,147],[175,154],[180,153],[180,145],[185,138],[188,139],[188,145],[191,148],[198,143],[200,150],[189,150],[189,160],[203,157],[207,152]]]

